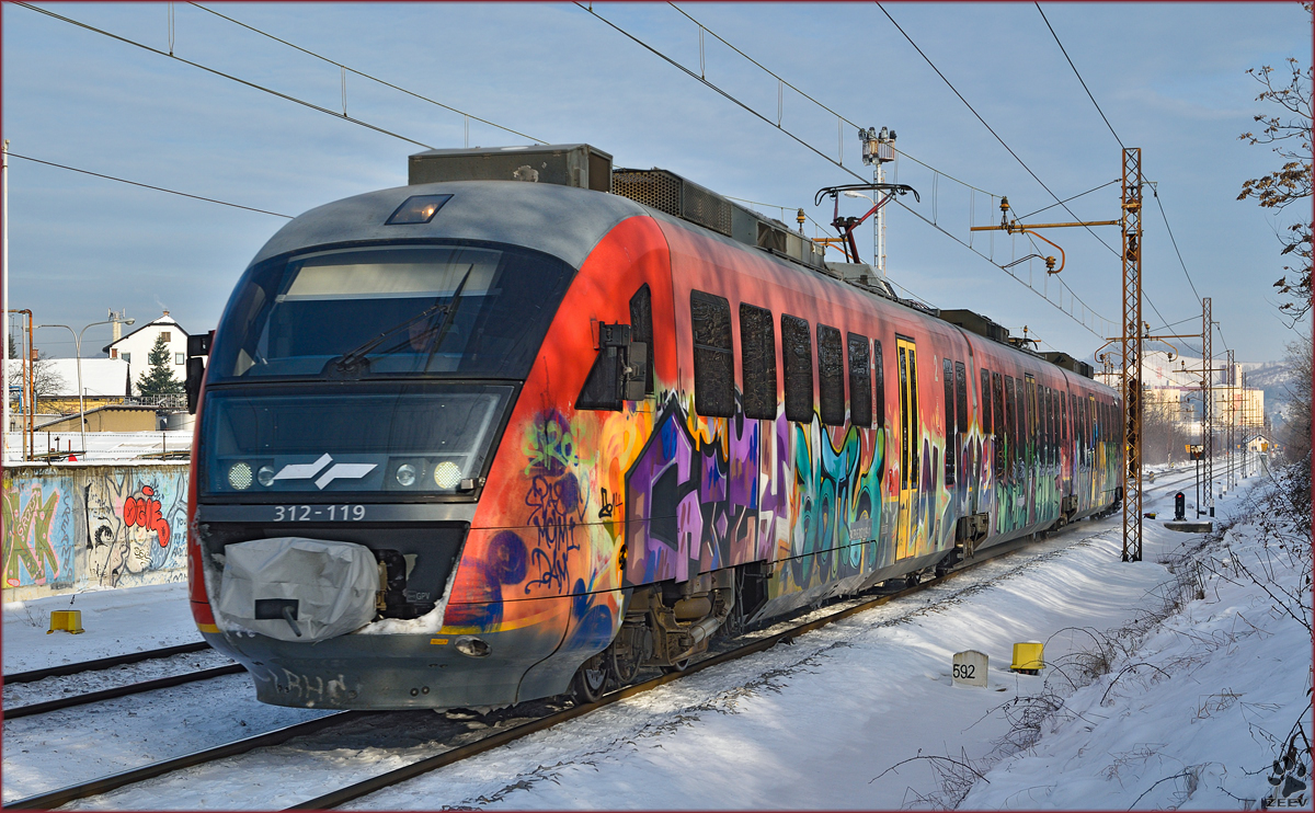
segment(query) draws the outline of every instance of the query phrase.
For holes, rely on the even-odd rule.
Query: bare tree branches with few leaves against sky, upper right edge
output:
[[[1302,8],[1311,14],[1311,3]],[[1243,133],[1241,141],[1272,145],[1283,164],[1264,178],[1253,178],[1241,185],[1237,200],[1255,197],[1262,208],[1276,213],[1289,204],[1310,200],[1311,196],[1311,67],[1302,67],[1295,58],[1287,59],[1286,70],[1264,66],[1258,71],[1247,72],[1265,89],[1256,101],[1266,101],[1279,108],[1276,113],[1257,113],[1255,120],[1262,125],[1260,133]],[[1279,255],[1295,255],[1297,262],[1283,266],[1283,276],[1274,283],[1282,297],[1279,310],[1295,325],[1311,309],[1311,224],[1307,220],[1310,204],[1298,207],[1301,216],[1297,222],[1285,228],[1278,241],[1282,245]]]

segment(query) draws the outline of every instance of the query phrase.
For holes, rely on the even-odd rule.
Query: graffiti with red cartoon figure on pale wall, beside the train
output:
[[[132,587],[184,578],[184,470],[107,470],[84,489],[91,584]]]

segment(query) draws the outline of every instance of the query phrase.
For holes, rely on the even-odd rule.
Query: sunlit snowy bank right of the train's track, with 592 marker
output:
[[[1145,509],[1172,516],[1177,488],[1157,492]],[[1237,496],[1219,501],[1220,520],[1237,506]],[[1123,563],[1119,528],[1112,521],[1105,526],[1098,539],[928,612],[894,624],[882,624],[877,612],[856,616],[801,637],[793,651],[776,647],[696,675],[348,806],[899,808],[959,801],[947,784],[964,771],[928,758],[952,758],[986,774],[963,801],[965,809],[1241,809],[1248,799],[1258,806],[1270,789],[1266,768],[1281,752],[1276,742],[1308,718],[1308,629],[1276,610],[1262,589],[1237,578],[1236,567],[1220,576],[1203,571],[1205,597],[1190,601],[1182,616],[1151,625],[1148,613],[1164,608],[1177,581],[1157,559],[1202,537],[1147,521],[1144,560]],[[1258,542],[1240,528],[1223,545],[1255,568]],[[1304,545],[1308,551],[1308,533]],[[1304,562],[1286,571],[1291,583],[1308,572],[1308,556]],[[1176,570],[1181,574],[1184,566]],[[1308,595],[1297,604],[1308,606]],[[1014,642],[1049,639],[1047,660],[1076,672],[1078,660],[1065,658],[1065,650],[1098,638],[1069,628],[1098,633],[1128,622],[1132,629],[1116,639],[1140,646],[1115,654],[1115,671],[1077,692],[1057,667],[1038,678],[1002,671]],[[1139,629],[1149,629],[1149,637],[1139,641]],[[951,656],[965,649],[990,655],[989,689],[951,685]],[[1147,666],[1134,667],[1141,663]],[[1072,681],[1081,685],[1081,675]],[[1027,735],[1016,721],[1036,701],[1015,697],[1045,700],[1048,691],[1063,700],[1060,716],[1043,721],[1031,747],[997,762],[1002,741],[1019,743]],[[942,781],[947,774],[949,781]]]

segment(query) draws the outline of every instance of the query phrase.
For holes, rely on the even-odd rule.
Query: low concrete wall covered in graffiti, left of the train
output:
[[[187,463],[4,470],[4,601],[187,579]]]

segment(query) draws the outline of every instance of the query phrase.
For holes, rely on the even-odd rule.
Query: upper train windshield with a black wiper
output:
[[[225,312],[208,382],[525,378],[571,275],[544,254],[455,243],[263,263]]]

